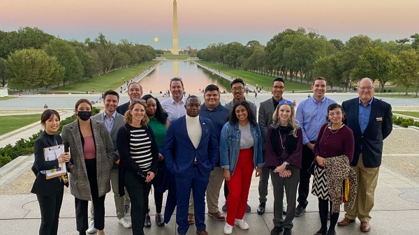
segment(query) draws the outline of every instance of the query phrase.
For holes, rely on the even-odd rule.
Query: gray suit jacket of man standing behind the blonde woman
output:
[[[262,133],[263,150],[265,150],[266,147],[267,128],[269,128],[272,125],[272,116],[274,115],[274,112],[274,101],[272,100],[272,97],[260,103],[258,123],[260,127],[260,132]]]

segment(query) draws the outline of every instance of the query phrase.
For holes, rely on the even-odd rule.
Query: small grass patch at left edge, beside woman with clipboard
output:
[[[41,114],[0,116],[0,135],[41,121]]]

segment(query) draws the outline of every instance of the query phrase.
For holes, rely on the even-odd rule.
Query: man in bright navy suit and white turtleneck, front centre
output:
[[[175,175],[177,186],[177,232],[189,229],[189,195],[195,206],[196,233],[207,235],[205,226],[205,190],[219,156],[219,145],[210,119],[199,116],[200,100],[186,99],[186,115],[170,122],[163,144],[168,170]]]

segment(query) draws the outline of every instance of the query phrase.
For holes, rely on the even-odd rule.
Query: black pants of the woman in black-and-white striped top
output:
[[[126,171],[124,175],[125,188],[131,198],[131,222],[133,235],[144,235],[144,220],[147,213],[148,196],[152,183],[145,183],[145,179],[132,172]]]

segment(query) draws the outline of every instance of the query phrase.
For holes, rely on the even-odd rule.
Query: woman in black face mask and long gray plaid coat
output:
[[[79,234],[85,235],[87,202],[94,207],[94,227],[98,235],[105,234],[105,195],[110,192],[110,170],[114,149],[105,124],[90,119],[91,103],[80,99],[75,103],[78,119],[63,127],[61,138],[69,146],[71,160],[68,166],[71,194],[75,197],[75,219]]]

